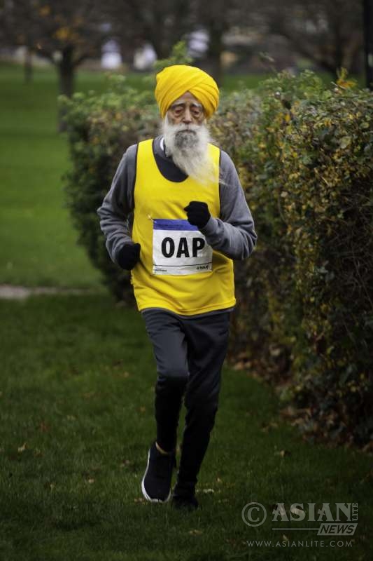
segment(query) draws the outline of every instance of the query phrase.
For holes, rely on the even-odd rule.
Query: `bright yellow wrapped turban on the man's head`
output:
[[[190,92],[202,103],[207,117],[216,111],[219,104],[219,88],[216,81],[203,70],[194,66],[174,65],[158,72],[155,99],[162,119],[170,105]]]

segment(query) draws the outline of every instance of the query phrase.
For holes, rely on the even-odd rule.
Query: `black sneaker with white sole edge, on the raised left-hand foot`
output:
[[[149,448],[148,465],[141,482],[141,491],[147,501],[165,503],[169,500],[174,468],[176,468],[175,454],[161,454],[153,442]]]

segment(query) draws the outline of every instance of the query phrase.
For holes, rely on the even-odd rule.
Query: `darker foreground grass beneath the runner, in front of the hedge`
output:
[[[260,381],[225,368],[197,485],[202,508],[174,512],[141,497],[156,374],[139,313],[104,295],[0,307],[1,561],[372,558],[371,458],[302,441]],[[250,501],[269,512],[277,502],[329,502],[332,511],[336,501],[358,502],[353,546],[332,548],[324,538],[323,548],[249,548],[247,540],[284,535],[320,540],[311,530],[275,532],[270,517],[246,526]]]

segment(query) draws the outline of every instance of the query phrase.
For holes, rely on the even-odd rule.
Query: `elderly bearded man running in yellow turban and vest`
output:
[[[162,134],[125,151],[97,212],[111,259],[132,271],[157,363],[157,435],[143,496],[195,510],[236,303],[232,259],[251,255],[257,235],[234,164],[206,126],[218,107],[216,82],[196,67],[167,67],[157,74],[155,98]]]

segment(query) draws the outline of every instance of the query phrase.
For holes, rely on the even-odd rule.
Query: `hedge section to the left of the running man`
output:
[[[158,119],[150,93],[127,87],[124,76],[113,75],[110,81],[109,91],[101,95],[91,91],[59,98],[72,163],[64,175],[64,189],[78,243],[113,295],[134,302],[129,273],[108,257],[96,211],[127,147],[155,135]]]

